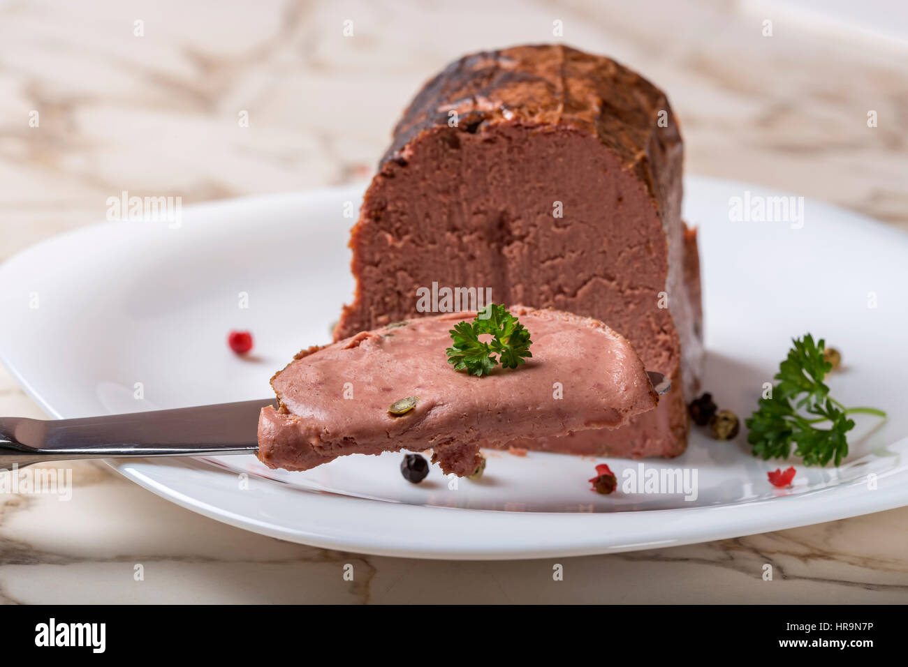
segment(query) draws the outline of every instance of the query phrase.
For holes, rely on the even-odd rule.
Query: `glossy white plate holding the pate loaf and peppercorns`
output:
[[[778,194],[686,183],[686,220],[701,228],[705,387],[744,417],[790,338],[811,331],[843,351],[834,395],[891,415],[882,427],[858,422],[843,466],[797,465],[792,489],[768,484],[766,471],[785,463],[750,456],[743,434],[718,443],[696,430],[685,456],[643,464],[696,470],[696,500],[597,495],[586,482],[595,461],[536,453],[491,453],[484,479],[457,488],[437,468],[410,485],[397,469],[400,454],[349,456],[307,473],[271,471],[252,456],[111,465],[179,505],[258,533],[432,558],[628,551],[908,505],[908,236],[809,200],[803,229],[730,222],[729,198],[745,190]],[[44,241],[0,268],[3,361],[57,417],[267,397],[271,374],[300,348],[327,341],[350,299],[352,221],[342,211],[345,201],[356,208],[361,191],[222,201],[184,210],[176,229],[105,222]],[[876,308],[868,307],[871,292]],[[254,358],[227,348],[230,329],[252,329]],[[608,463],[619,482],[639,465]]]

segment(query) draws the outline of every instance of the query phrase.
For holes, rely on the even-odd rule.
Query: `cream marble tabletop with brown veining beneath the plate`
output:
[[[778,4],[502,2],[477,15],[417,0],[3,2],[0,260],[104,219],[123,190],[190,203],[368,176],[429,74],[469,50],[558,41],[557,20],[563,41],[668,91],[688,172],[908,230],[908,50],[796,21]],[[2,370],[0,414],[41,416]],[[908,508],[631,554],[435,562],[283,543],[192,514],[103,464],[64,467],[68,502],[0,494],[0,602],[908,602]]]

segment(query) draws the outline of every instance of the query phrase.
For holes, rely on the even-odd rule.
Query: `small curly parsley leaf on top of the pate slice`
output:
[[[482,334],[490,334],[488,343],[479,340]],[[505,368],[517,368],[524,357],[532,357],[529,346],[529,331],[524,329],[504,306],[490,303],[479,311],[472,324],[459,322],[450,330],[454,345],[446,350],[448,363],[455,370],[466,370],[470,375],[489,375],[500,361]],[[493,355],[498,354],[498,358]]]

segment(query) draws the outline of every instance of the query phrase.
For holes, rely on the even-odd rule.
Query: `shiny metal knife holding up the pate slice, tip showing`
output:
[[[671,383],[647,371],[656,394]],[[274,398],[78,419],[0,417],[0,470],[43,461],[255,454],[262,407]]]

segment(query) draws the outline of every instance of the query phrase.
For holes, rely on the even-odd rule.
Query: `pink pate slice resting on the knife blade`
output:
[[[309,470],[348,454],[432,449],[445,474],[472,474],[482,446],[616,428],[658,397],[627,339],[596,319],[515,306],[532,358],[478,378],[457,371],[449,330],[475,312],[412,319],[301,351],[271,378],[259,459]],[[415,397],[402,415],[392,403]]]

